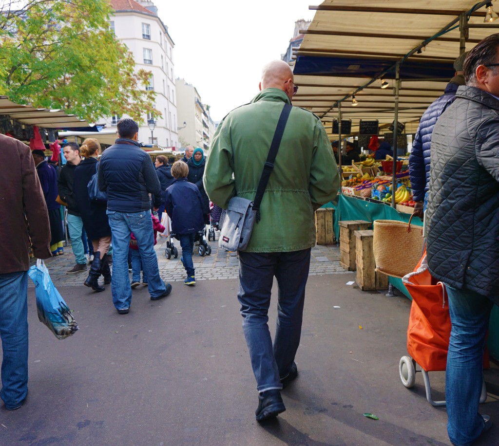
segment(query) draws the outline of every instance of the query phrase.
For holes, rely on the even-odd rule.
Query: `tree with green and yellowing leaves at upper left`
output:
[[[107,0],[29,0],[0,7],[0,94],[14,102],[62,109],[89,122],[156,110],[150,71],[109,28]]]

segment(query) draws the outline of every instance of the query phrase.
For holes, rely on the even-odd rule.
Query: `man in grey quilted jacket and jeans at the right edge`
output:
[[[471,445],[491,426],[478,408],[489,317],[499,304],[498,67],[493,34],[469,52],[466,85],[432,134],[428,266],[448,295],[447,429],[455,445]]]

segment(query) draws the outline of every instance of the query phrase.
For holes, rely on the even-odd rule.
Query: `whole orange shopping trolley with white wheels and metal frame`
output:
[[[407,351],[410,356],[402,356],[400,359],[400,379],[409,389],[414,387],[416,372],[421,372],[428,402],[432,406],[445,406],[445,401],[433,401],[428,376],[430,371],[445,371],[447,367],[451,318],[445,285],[432,278],[428,271],[426,252],[414,272],[404,276],[402,281],[413,301],[407,328]],[[417,365],[421,370],[416,370]],[[486,350],[484,368],[489,367]],[[486,399],[487,389],[484,381],[480,402],[484,403]]]

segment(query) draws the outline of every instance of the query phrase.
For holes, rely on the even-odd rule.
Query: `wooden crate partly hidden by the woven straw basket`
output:
[[[373,252],[373,231],[355,231],[356,282],[362,291],[386,290],[388,276],[376,272]]]

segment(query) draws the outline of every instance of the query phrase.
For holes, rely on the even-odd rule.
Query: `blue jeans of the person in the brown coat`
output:
[[[7,408],[18,406],[28,391],[27,291],[27,271],[0,274],[0,397]]]

